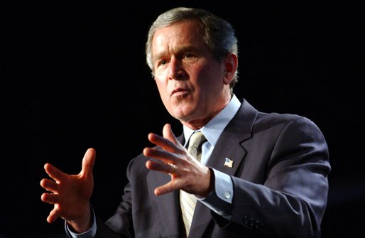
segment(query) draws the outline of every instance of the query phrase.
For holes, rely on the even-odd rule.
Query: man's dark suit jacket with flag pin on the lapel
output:
[[[183,143],[183,136],[179,137]],[[233,168],[224,166],[230,158]],[[121,203],[96,237],[183,237],[178,192],[157,197],[165,173],[148,171],[139,155],[127,168]],[[190,237],[320,237],[327,205],[328,148],[305,117],[258,112],[246,100],[217,141],[207,166],[231,175],[232,218],[197,202]]]

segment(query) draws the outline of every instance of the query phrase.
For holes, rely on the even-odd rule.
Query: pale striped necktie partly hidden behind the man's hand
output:
[[[187,151],[198,161],[202,156],[202,144],[207,141],[201,131],[197,131],[190,137]],[[180,205],[182,211],[182,220],[184,221],[186,236],[189,236],[192,216],[194,215],[197,199],[194,195],[180,190]]]

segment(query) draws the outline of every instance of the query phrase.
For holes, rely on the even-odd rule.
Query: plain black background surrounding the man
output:
[[[332,164],[322,237],[364,237],[365,28],[350,1],[2,1],[0,237],[63,237],[40,201],[44,163],[78,173],[96,148],[92,204],[106,220],[148,132],[169,122],[180,134],[144,55],[148,27],[175,6],[236,28],[238,97],[322,129]]]

